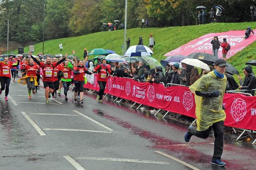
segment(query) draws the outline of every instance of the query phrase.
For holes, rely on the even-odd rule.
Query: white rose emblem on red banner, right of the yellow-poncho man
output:
[[[241,98],[234,99],[230,113],[236,123],[244,119],[244,116],[246,115],[246,102]]]

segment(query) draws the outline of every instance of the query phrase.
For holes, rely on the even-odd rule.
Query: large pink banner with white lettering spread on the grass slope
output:
[[[256,31],[253,30],[253,31]],[[223,33],[208,33],[202,37],[194,39],[185,45],[178,47],[175,50],[166,53],[164,56],[172,55],[185,55],[188,56],[191,53],[209,53],[212,54],[212,44],[211,41],[214,36],[218,36],[219,41],[223,41],[223,38],[227,39],[227,42],[230,44],[230,50],[227,54],[227,59],[232,57],[251,43],[256,40],[256,35],[251,33],[251,36],[248,39],[244,39],[245,30],[242,31],[228,31]],[[222,47],[219,49],[218,58],[222,58]]]

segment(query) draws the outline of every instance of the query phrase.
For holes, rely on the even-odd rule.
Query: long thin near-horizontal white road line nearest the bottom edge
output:
[[[119,161],[119,162],[138,162],[138,163],[162,164],[162,165],[169,165],[170,164],[170,162],[160,162],[160,161],[154,161],[154,160],[121,159],[121,158],[79,157],[77,159],[108,160],[108,161]]]

